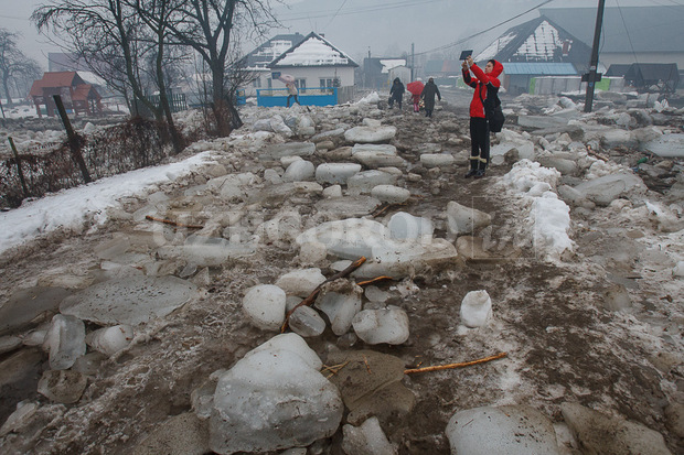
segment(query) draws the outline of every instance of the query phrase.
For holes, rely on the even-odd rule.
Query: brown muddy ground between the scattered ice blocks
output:
[[[466,133],[464,111],[455,113],[455,121]],[[440,115],[447,113],[436,112],[436,117]],[[395,143],[413,163],[419,155],[410,148],[435,142],[426,138],[431,131],[429,119],[405,111],[388,116],[385,123],[398,127]],[[467,143],[457,147],[467,148]],[[491,232],[496,241],[505,243],[506,232],[516,231],[523,223],[514,198],[493,184],[509,170],[510,164],[492,167],[488,177],[479,181],[464,180],[462,166],[440,173],[417,170],[424,178],[406,182],[413,195],[408,204],[389,208],[380,219],[399,210],[435,217],[443,213],[450,201],[464,205],[477,201],[478,209],[492,215]],[[171,196],[182,195],[183,189],[195,184],[193,178],[162,189]],[[320,196],[308,197],[311,207]],[[126,209],[132,213],[143,205],[145,201],[130,199]],[[301,213],[310,212],[310,207]],[[226,208],[218,204],[213,207]],[[277,213],[277,208],[270,210]],[[523,245],[503,249],[493,259],[459,260],[421,272],[413,278],[417,288],[406,291],[406,295],[397,291],[402,283],[377,284],[391,293],[389,304],[408,313],[410,338],[405,345],[364,346],[356,342],[350,347],[330,328],[322,337],[309,338],[309,345],[323,362],[329,353],[339,349],[367,348],[397,356],[407,367],[507,353],[505,359],[490,364],[406,376],[404,383],[416,396],[415,409],[408,415],[393,415],[381,422],[400,454],[448,454],[445,429],[459,410],[530,404],[560,422],[559,404],[566,401],[640,422],[661,432],[673,453],[684,453],[684,442],[670,430],[664,413],[684,392],[684,367],[676,360],[682,336],[676,329],[671,343],[660,336],[666,327],[683,322],[682,296],[670,295],[656,282],[644,283],[645,272],[641,268],[648,266],[638,261],[631,270],[623,270],[596,259],[614,250],[608,241],[607,232],[613,227],[608,210],[573,213],[571,238],[577,248],[562,264],[543,261],[531,246]],[[644,236],[655,235],[646,221],[631,223],[632,226],[622,223],[620,227]],[[120,232],[135,235],[135,229],[130,221],[113,219],[95,232],[55,234],[6,254],[0,264],[0,295],[7,299],[18,289],[39,284],[44,277],[97,275],[101,259],[95,249]],[[435,236],[446,236],[443,225],[441,230],[437,226]],[[75,404],[50,404],[35,391],[42,371],[47,368],[47,357],[32,348],[41,353],[34,354],[39,359],[35,368],[0,391],[0,422],[19,401],[31,400],[43,405],[44,426],[38,425],[28,434],[9,435],[6,444],[41,454],[131,453],[161,422],[191,411],[191,392],[213,371],[229,368],[274,335],[247,323],[241,311],[242,297],[248,288],[274,283],[282,273],[299,267],[296,256],[292,247],[261,245],[253,257],[212,269],[204,299],[151,324],[146,339],[127,354],[104,360]],[[330,268],[322,271],[325,275],[334,273]],[[616,313],[605,307],[605,293],[616,282],[627,283],[632,311]],[[491,295],[494,322],[487,328],[459,335],[460,302],[473,290],[487,290]],[[314,444],[309,453],[342,454],[341,437],[340,430],[331,440]]]

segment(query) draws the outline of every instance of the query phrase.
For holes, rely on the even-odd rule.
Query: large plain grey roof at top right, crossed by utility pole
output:
[[[594,43],[596,8],[545,8],[539,13],[585,43]],[[601,52],[684,52],[683,23],[684,6],[606,8]]]

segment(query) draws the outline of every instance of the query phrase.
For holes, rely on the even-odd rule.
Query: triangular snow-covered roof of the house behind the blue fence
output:
[[[293,45],[274,59],[270,68],[289,66],[359,66],[345,53],[333,46],[328,40],[309,33],[303,41]]]

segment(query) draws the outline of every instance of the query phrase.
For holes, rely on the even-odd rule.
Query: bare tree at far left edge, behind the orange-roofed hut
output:
[[[41,67],[38,62],[26,57],[17,47],[18,39],[18,33],[0,29],[0,80],[9,107],[12,107],[10,82],[18,86],[19,79],[38,79],[41,75]],[[17,95],[21,94],[18,93]]]

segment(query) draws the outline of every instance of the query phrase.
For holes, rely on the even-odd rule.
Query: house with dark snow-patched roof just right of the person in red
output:
[[[512,94],[527,93],[539,76],[578,76],[591,58],[591,47],[546,17],[513,26],[484,51],[477,62],[503,63],[503,87]]]

